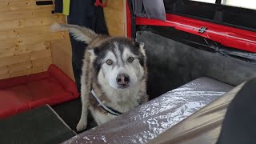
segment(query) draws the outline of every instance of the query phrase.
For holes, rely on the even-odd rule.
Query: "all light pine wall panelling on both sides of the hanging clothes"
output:
[[[74,79],[67,32],[50,31],[54,22],[66,22],[51,14],[53,5],[36,6],[34,0],[0,2],[0,79],[47,70],[50,63]],[[110,35],[126,36],[125,0],[109,0],[104,8]]]

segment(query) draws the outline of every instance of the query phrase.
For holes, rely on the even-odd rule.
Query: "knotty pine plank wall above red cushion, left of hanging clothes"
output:
[[[50,31],[54,22],[66,22],[52,10],[54,5],[36,6],[34,0],[1,0],[1,79],[47,70],[53,62],[52,42],[70,41],[65,32]]]

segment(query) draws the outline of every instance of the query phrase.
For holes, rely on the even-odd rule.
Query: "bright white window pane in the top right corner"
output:
[[[256,10],[256,0],[222,0],[222,4]]]

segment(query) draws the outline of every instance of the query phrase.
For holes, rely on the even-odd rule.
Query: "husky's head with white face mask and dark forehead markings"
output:
[[[146,55],[142,42],[112,38],[94,48],[94,70],[101,85],[120,90],[140,82]]]

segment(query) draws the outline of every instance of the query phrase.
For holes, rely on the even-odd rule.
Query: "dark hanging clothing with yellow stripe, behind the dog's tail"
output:
[[[109,34],[101,6],[94,6],[95,0],[55,0],[55,12],[68,13],[67,23],[85,26],[94,30],[97,34]],[[69,5],[70,4],[70,5]],[[69,6],[69,10],[66,9]],[[72,66],[75,82],[80,92],[82,75],[82,59],[86,50],[86,44],[78,42],[70,36],[72,46]]]

